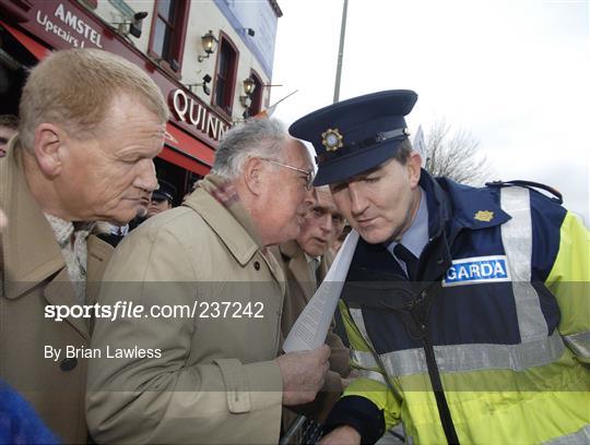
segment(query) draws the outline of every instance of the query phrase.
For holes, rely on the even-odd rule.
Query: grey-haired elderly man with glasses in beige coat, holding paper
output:
[[[130,352],[90,365],[95,441],[278,443],[282,406],[315,398],[330,349],[278,358],[285,277],[268,249],[299,234],[312,171],[278,121],[251,120],[182,206],[119,245],[98,302],[145,314],[96,318],[92,348]]]

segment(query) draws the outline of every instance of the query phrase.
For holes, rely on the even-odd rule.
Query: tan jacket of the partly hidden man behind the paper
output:
[[[309,302],[317,287],[321,284],[330,266],[332,265],[333,254],[328,251],[319,263],[316,277],[307,264],[305,252],[296,241],[290,241],[280,245],[280,254],[275,248],[275,256],[280,256],[288,282],[287,294],[283,304],[283,318],[281,329],[286,337],[295,321]],[[330,371],[326,376],[326,384],[322,392],[319,393],[314,404],[300,407],[300,411],[323,420],[330,408],[338,400],[342,392],[341,376],[345,377],[350,373],[349,349],[342,344],[342,340],[331,329],[326,337],[326,344],[331,348]]]

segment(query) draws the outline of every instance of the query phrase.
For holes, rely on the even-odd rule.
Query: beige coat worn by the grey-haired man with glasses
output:
[[[87,419],[97,442],[278,442],[282,378],[273,359],[284,276],[241,222],[198,188],[184,206],[150,218],[117,248],[101,303],[192,308],[197,301],[210,309],[167,320],[97,320],[94,348],[161,351],[91,362]],[[234,308],[225,317],[223,308],[213,314],[212,305],[223,302],[261,303],[263,317],[233,318]]]

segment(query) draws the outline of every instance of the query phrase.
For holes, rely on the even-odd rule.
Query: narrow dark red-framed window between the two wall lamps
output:
[[[222,33],[215,69],[215,95],[213,104],[232,116],[234,86],[236,83],[238,51],[235,45]]]

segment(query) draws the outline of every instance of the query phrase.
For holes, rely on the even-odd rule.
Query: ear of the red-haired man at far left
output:
[[[61,172],[66,140],[66,132],[52,123],[42,123],[35,130],[35,158],[45,176],[55,178]]]

